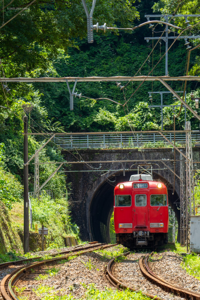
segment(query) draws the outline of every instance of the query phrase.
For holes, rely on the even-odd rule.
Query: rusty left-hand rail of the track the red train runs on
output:
[[[129,252],[126,252],[124,254],[121,254],[121,255],[128,255],[130,253]],[[115,278],[112,274],[112,268],[113,268],[113,265],[115,263],[115,259],[121,255],[118,255],[116,257],[114,257],[113,259],[111,259],[107,265],[107,269],[106,269],[106,277],[107,279],[115,286],[117,287],[118,289],[129,289],[130,291],[134,291],[134,292],[139,292],[139,290],[135,289],[134,287],[131,287],[131,286],[128,286],[124,283],[122,283],[121,281],[119,281],[117,278]],[[155,300],[162,300],[162,298],[160,297],[155,297],[155,295],[151,295],[151,294],[147,294],[147,293],[144,293],[142,292],[143,295],[151,298],[151,299],[155,299]]]

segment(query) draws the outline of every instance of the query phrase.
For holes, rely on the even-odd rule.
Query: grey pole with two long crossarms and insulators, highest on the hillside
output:
[[[168,18],[172,17],[172,18],[176,18],[176,17],[184,17],[185,18],[185,24],[187,25],[187,27],[190,27],[190,21],[188,21],[188,17],[199,17],[200,15],[145,15],[145,18],[147,18],[148,21],[149,18],[164,18],[165,19],[165,22],[168,23]],[[149,25],[149,28],[153,28],[154,25],[150,24]],[[154,31],[153,31],[154,32]],[[165,52],[166,52],[166,55],[165,55],[165,76],[169,76],[168,74],[168,40],[171,39],[171,40],[175,40],[177,38],[177,36],[175,36],[175,32],[174,32],[174,36],[168,36],[169,33],[171,32],[171,30],[168,29],[168,25],[166,26],[166,29],[165,29],[165,36],[164,37],[148,37],[148,38],[145,38],[145,40],[147,41],[147,43],[150,41],[150,40],[163,40],[165,42]],[[185,40],[185,46],[186,46],[186,49],[190,49],[191,46],[189,46],[189,42],[187,41],[187,39],[190,39],[190,38],[200,38],[200,35],[182,35],[180,37],[178,37],[178,39],[184,39]]]

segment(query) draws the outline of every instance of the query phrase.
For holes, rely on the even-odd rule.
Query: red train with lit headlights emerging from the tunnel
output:
[[[118,244],[154,247],[168,241],[168,196],[164,183],[151,175],[132,175],[116,185],[114,224]]]

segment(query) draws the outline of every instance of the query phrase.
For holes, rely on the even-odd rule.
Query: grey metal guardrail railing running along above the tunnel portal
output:
[[[173,143],[173,132],[162,132],[165,137]],[[192,141],[200,143],[200,132],[192,131]],[[186,137],[184,131],[175,133],[177,143],[185,143]],[[63,134],[55,135],[52,139],[57,145],[64,149],[77,148],[109,148],[128,146],[142,146],[144,143],[164,142],[168,143],[159,133],[78,133],[78,134]]]

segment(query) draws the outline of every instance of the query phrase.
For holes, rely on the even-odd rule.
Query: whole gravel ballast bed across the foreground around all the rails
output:
[[[69,247],[67,247],[66,250],[69,250]],[[111,247],[107,250],[112,251],[116,249],[115,247]],[[39,253],[37,253],[37,255],[38,254]],[[121,282],[148,294],[159,296],[166,300],[183,300],[184,298],[165,292],[143,277],[138,264],[141,256],[146,256],[146,253],[131,253],[126,256],[124,261],[116,262],[112,274]],[[116,289],[105,276],[105,270],[109,260],[110,259],[103,257],[100,252],[85,253],[69,261],[61,262],[60,264],[53,264],[52,266],[46,265],[40,269],[35,269],[34,274],[27,274],[25,275],[28,276],[27,278],[18,280],[16,286],[26,286],[23,296],[28,296],[29,299],[34,300],[39,300],[39,298],[32,290],[37,289],[37,286],[40,286],[40,284],[42,286],[54,287],[54,290],[58,292],[58,296],[72,294],[75,298],[83,297],[86,291],[84,286],[88,286],[88,284],[91,283],[94,283],[99,290],[105,290],[105,287]],[[160,252],[152,256],[149,267],[155,274],[167,281],[199,292],[200,281],[188,275],[186,271],[181,268],[181,262],[182,257],[177,253],[170,251]],[[13,270],[12,267],[16,268],[16,266],[10,266],[9,272]],[[46,274],[46,269],[52,267],[58,268],[58,273],[43,280],[35,280],[38,274]],[[7,274],[7,269],[8,268],[0,270],[1,279]],[[1,299],[0,296],[0,300]]]

